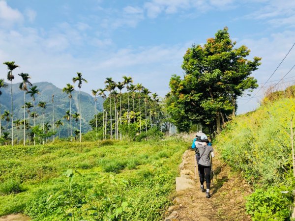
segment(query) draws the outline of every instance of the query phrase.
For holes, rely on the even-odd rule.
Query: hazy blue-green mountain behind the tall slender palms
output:
[[[8,87],[1,89],[2,95],[0,96],[0,103],[1,103],[1,114],[5,110],[9,110],[11,112],[11,85],[10,83],[7,83]],[[33,85],[37,86],[37,89],[39,89],[40,94],[35,95],[35,111],[39,115],[35,120],[36,124],[42,124],[43,118],[42,118],[42,109],[40,107],[37,107],[39,101],[46,102],[46,109],[45,109],[45,122],[49,122],[50,125],[53,126],[53,105],[52,105],[52,95],[54,95],[54,115],[55,115],[55,121],[62,119],[62,117],[65,115],[65,111],[69,110],[70,104],[69,104],[69,97],[66,93],[62,92],[61,88],[58,88],[52,83],[49,82],[40,82],[40,83],[34,83]],[[19,89],[19,83],[13,83],[12,84],[12,90],[13,90],[13,120],[16,119],[24,119],[24,109],[22,108],[24,106],[24,91]],[[26,94],[26,102],[32,102],[32,99],[29,94]],[[72,93],[72,99],[71,99],[71,108],[72,108],[72,114],[74,112],[78,112],[79,110],[79,91],[74,91]],[[33,111],[33,108],[30,109],[31,112]],[[97,111],[102,111],[102,98],[97,98]],[[94,98],[85,92],[81,91],[81,128],[82,133],[85,133],[91,129],[89,126],[89,121],[93,118],[95,114],[95,108],[94,108]],[[26,112],[26,118],[28,117],[28,114]],[[67,121],[62,119],[63,126],[60,127],[60,137],[66,137],[67,136]],[[32,124],[32,118],[30,118],[30,125]],[[6,121],[1,120],[1,125],[6,128]],[[8,123],[8,127],[11,125],[11,122]],[[73,131],[76,129],[76,122],[72,120],[72,128]],[[78,121],[78,129],[79,129],[79,121]],[[21,131],[23,131],[21,129]],[[14,134],[16,135],[16,130],[14,131]],[[19,133],[21,136],[21,132]]]

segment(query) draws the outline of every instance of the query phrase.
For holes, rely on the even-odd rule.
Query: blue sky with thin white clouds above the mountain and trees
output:
[[[295,47],[261,88],[295,43],[294,0],[0,0],[0,78],[15,61],[14,83],[23,72],[62,88],[81,72],[90,93],[125,75],[164,97],[187,48],[224,27],[249,59],[262,57],[260,88],[238,99],[238,113],[253,111],[294,65]],[[276,88],[291,83],[295,69]]]

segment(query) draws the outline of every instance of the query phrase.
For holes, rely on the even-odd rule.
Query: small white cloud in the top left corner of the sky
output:
[[[0,25],[11,26],[24,20],[22,13],[17,9],[9,7],[4,0],[0,0]]]

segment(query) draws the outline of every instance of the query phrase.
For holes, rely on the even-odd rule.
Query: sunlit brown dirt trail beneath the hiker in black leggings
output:
[[[207,199],[200,190],[198,168],[195,182],[195,152],[185,151],[179,166],[181,178],[176,180],[175,205],[168,209],[165,221],[251,221],[245,212],[244,199],[250,193],[250,187],[214,152],[217,155],[213,158],[214,185],[211,181],[211,197]]]

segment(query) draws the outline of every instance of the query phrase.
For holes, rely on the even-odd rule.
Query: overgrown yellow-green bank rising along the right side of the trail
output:
[[[295,188],[289,137],[294,97],[294,86],[267,95],[262,107],[236,117],[217,137],[223,159],[255,189],[246,205],[253,220],[290,219],[293,197],[281,191]]]

